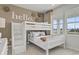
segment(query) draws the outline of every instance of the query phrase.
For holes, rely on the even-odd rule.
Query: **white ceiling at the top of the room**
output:
[[[60,4],[15,4],[15,6],[30,9],[37,12],[46,12],[50,9],[58,7]]]

